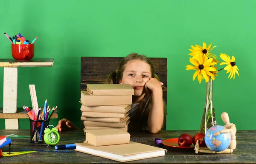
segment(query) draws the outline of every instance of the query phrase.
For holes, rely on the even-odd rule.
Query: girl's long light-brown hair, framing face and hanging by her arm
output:
[[[119,67],[113,71],[111,74],[108,75],[106,79],[106,84],[119,84],[119,81],[122,80],[123,72],[125,71],[126,65],[128,62],[132,60],[141,60],[148,65],[150,65],[151,69],[151,77],[156,78],[158,81],[160,81],[159,77],[155,74],[154,65],[151,62],[150,59],[145,57],[144,55],[139,55],[137,53],[132,53],[127,55],[119,64]],[[139,104],[139,108],[134,111],[134,114],[130,116],[130,123],[128,124],[129,129],[133,130],[146,130],[147,128],[147,122],[148,122],[148,114],[149,110],[151,108],[151,101],[152,101],[152,95],[149,95],[148,92],[145,93],[144,98]],[[164,110],[164,116],[166,116],[166,103],[163,100],[163,110]]]

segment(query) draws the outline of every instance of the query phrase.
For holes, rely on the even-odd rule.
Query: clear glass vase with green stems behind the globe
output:
[[[216,124],[215,109],[213,105],[213,80],[210,77],[206,84],[204,112],[199,133],[205,134],[210,127],[215,126]]]

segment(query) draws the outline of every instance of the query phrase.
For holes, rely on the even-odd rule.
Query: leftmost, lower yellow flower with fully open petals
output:
[[[189,57],[189,62],[191,62],[193,65],[186,65],[186,70],[196,70],[193,75],[193,81],[195,80],[195,77],[198,76],[198,81],[201,83],[202,76],[205,79],[205,82],[209,81],[208,76],[210,76],[214,80],[214,74],[211,72],[216,71],[216,68],[211,67],[211,65],[217,64],[216,62],[212,62],[212,58],[209,58],[207,56],[198,58],[191,58]],[[211,72],[210,72],[211,71]]]

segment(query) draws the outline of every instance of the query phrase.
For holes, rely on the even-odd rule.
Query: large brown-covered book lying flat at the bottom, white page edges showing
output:
[[[129,144],[116,144],[107,146],[93,146],[87,143],[76,143],[76,151],[126,162],[145,158],[165,156],[167,150],[146,144],[130,141]]]

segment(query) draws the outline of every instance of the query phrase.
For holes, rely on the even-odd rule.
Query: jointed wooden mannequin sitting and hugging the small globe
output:
[[[195,153],[233,153],[233,149],[236,149],[236,125],[233,123],[230,123],[229,116],[226,112],[221,113],[221,119],[225,123],[224,127],[227,129],[220,130],[216,133],[214,133],[214,136],[218,136],[220,133],[231,133],[231,142],[227,149],[221,151],[221,152],[215,152],[210,150],[208,147],[199,147],[199,142],[197,141],[195,144]]]

